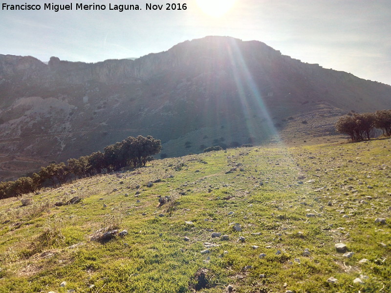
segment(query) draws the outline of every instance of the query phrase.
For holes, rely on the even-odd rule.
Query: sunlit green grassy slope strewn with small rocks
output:
[[[225,292],[228,284],[238,293],[390,292],[390,149],[390,139],[228,149],[83,179],[34,195],[27,207],[2,200],[0,293],[188,292],[200,268],[210,285],[203,292]],[[81,203],[53,207],[76,195]],[[172,196],[174,204],[158,207],[158,195]],[[377,217],[387,224],[375,224]],[[105,227],[129,234],[88,240]],[[211,238],[212,229],[229,240]],[[351,258],[335,251],[340,241],[355,252]],[[205,242],[216,246],[201,254]],[[363,258],[369,262],[359,263]],[[369,278],[353,284],[360,274]],[[331,276],[337,284],[326,281]]]

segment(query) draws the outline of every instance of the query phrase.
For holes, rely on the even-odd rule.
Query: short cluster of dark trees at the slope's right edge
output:
[[[354,113],[341,117],[335,124],[338,133],[348,134],[355,142],[370,139],[374,128],[381,129],[386,137],[391,136],[391,109],[374,113]]]

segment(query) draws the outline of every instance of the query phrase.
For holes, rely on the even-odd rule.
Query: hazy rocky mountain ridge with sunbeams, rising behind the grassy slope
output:
[[[162,153],[179,156],[216,144],[312,141],[335,134],[348,111],[384,108],[390,85],[230,37],[99,63],[0,55],[0,179],[130,135],[152,135]]]

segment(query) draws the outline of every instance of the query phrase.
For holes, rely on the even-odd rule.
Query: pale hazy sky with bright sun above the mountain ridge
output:
[[[0,54],[98,62],[220,35],[265,42],[303,62],[391,84],[391,0],[175,0],[187,4],[179,11],[165,10],[167,2],[2,0],[42,8],[0,10]],[[73,9],[43,10],[43,3],[72,3]],[[106,10],[76,10],[76,3],[106,4]],[[118,12],[109,3],[142,10]],[[147,11],[146,3],[163,4],[163,10]]]

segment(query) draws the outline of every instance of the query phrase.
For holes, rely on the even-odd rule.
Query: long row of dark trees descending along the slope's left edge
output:
[[[15,181],[0,182],[0,199],[36,192],[45,184],[54,187],[84,177],[117,171],[122,167],[141,167],[160,152],[161,142],[152,136],[128,137],[122,142],[106,146],[104,152],[94,152],[78,159],[69,159],[66,164],[50,164],[41,167],[31,176]]]

